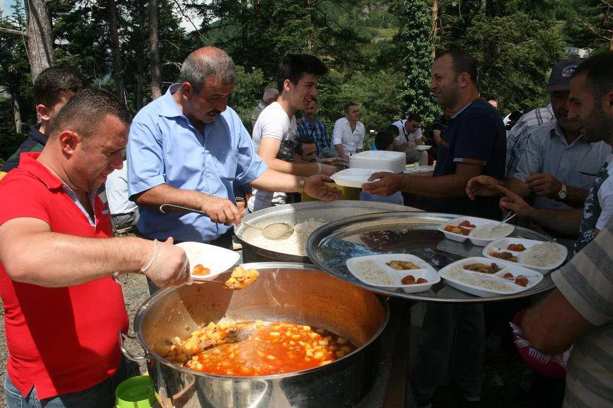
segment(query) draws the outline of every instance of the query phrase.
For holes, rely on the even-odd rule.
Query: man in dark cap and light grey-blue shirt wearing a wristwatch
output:
[[[582,136],[579,119],[568,118],[570,79],[582,59],[566,59],[552,70],[547,85],[555,119],[540,125],[528,138],[517,172],[508,181],[477,176],[468,182],[468,195],[498,194],[503,185],[536,209],[582,208],[587,192],[611,146],[590,143]]]

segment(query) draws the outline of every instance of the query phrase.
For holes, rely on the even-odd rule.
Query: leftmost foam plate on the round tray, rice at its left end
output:
[[[387,263],[392,261],[411,262],[418,269],[397,270]],[[411,254],[380,254],[349,258],[347,269],[357,280],[370,286],[402,289],[405,293],[424,292],[433,284],[439,283],[441,277],[436,270],[423,259]],[[425,279],[425,283],[402,284],[403,278],[412,275],[414,280]]]

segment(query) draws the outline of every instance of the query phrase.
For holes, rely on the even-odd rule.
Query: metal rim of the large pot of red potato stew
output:
[[[249,269],[249,268],[253,268],[253,269],[258,269],[258,268],[262,268],[262,267],[266,267],[267,269],[273,269],[273,268],[287,268],[287,267],[291,267],[292,269],[303,269],[303,270],[312,270],[314,272],[321,272],[321,273],[326,273],[324,271],[322,271],[321,269],[319,269],[318,267],[316,267],[315,265],[310,265],[310,264],[301,264],[300,262],[254,262],[252,264],[242,264],[242,266],[245,269]],[[200,283],[197,283],[200,284]],[[219,285],[223,285],[223,283],[220,282],[215,282],[215,281],[205,281],[205,283],[202,284],[219,284]],[[357,352],[361,351],[362,349],[364,349],[365,347],[369,346],[371,343],[373,343],[376,339],[379,338],[379,336],[381,335],[381,333],[383,332],[383,330],[387,327],[387,322],[389,321],[389,305],[387,303],[387,298],[370,292],[372,295],[374,295],[376,297],[376,299],[379,301],[379,303],[381,303],[381,307],[383,308],[383,321],[381,322],[381,325],[379,325],[378,330],[376,331],[376,333],[374,335],[372,335],[370,337],[370,339],[368,339],[368,341],[364,344],[362,344],[362,346],[358,347],[355,351],[339,358],[338,360],[334,360],[332,363],[327,364],[327,365],[323,365],[323,366],[318,366],[318,367],[314,367],[314,368],[309,368],[309,369],[304,369],[301,371],[294,371],[292,373],[283,373],[283,374],[274,374],[271,376],[222,376],[219,374],[209,374],[209,373],[203,373],[200,371],[196,371],[196,370],[192,370],[189,368],[184,368],[178,364],[169,362],[168,360],[166,360],[166,358],[162,357],[161,355],[157,354],[156,352],[154,352],[147,344],[147,342],[145,341],[145,338],[142,335],[142,332],[140,330],[136,330],[137,327],[140,327],[140,325],[142,324],[145,312],[147,311],[148,306],[150,305],[150,303],[154,303],[155,300],[158,297],[162,297],[167,291],[173,291],[177,289],[176,287],[169,287],[166,289],[162,289],[161,291],[156,292],[154,295],[152,295],[147,302],[143,303],[142,306],[140,306],[139,310],[137,310],[135,316],[134,316],[134,330],[135,330],[135,335],[136,338],[138,339],[140,346],[143,348],[143,350],[145,351],[145,355],[150,356],[149,359],[154,358],[155,360],[157,360],[159,363],[168,366],[170,368],[173,369],[177,369],[183,373],[186,374],[202,374],[208,377],[213,377],[213,378],[218,378],[218,379],[233,379],[233,378],[241,378],[241,379],[254,379],[254,380],[273,380],[273,379],[280,379],[280,378],[287,378],[287,377],[294,377],[294,376],[299,376],[302,374],[307,374],[307,373],[313,373],[315,371],[318,371],[320,369],[324,369],[326,367],[329,367],[331,364],[333,363],[337,363],[340,362],[342,360],[345,360],[346,358],[351,358],[354,354],[356,354]],[[363,289],[365,292],[365,289]],[[146,345],[143,346],[143,344]]]

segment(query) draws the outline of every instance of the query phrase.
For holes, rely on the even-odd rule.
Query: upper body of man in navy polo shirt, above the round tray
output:
[[[466,183],[471,177],[504,177],[506,160],[504,124],[498,111],[479,98],[476,75],[476,62],[466,51],[451,50],[436,57],[430,89],[436,102],[455,114],[438,146],[432,179],[424,183],[424,177],[375,173],[370,180],[380,180],[364,184],[366,193],[390,195],[402,190],[428,196],[430,211],[500,217],[497,200],[482,197],[470,201],[466,196]]]

